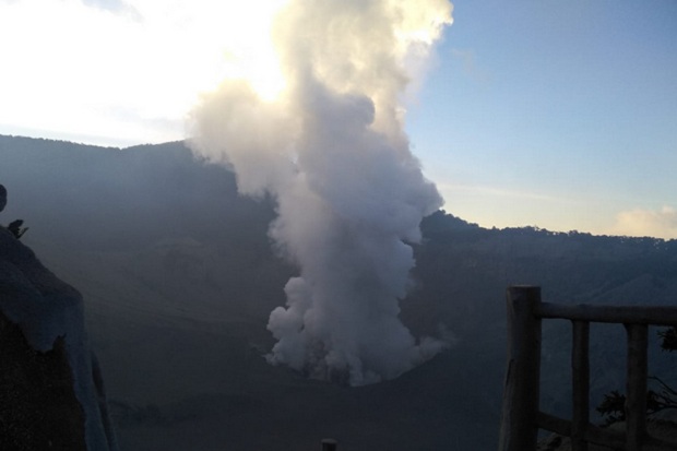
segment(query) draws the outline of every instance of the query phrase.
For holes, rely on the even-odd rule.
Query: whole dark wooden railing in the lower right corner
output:
[[[541,288],[508,288],[508,364],[499,451],[534,451],[538,429],[571,437],[572,451],[587,451],[589,443],[616,450],[640,451],[644,446],[677,450],[646,432],[648,329],[677,325],[677,307],[572,306],[541,301]],[[572,323],[572,418],[541,412],[542,319],[567,319]],[[625,432],[602,429],[590,423],[590,323],[620,323],[627,331]]]

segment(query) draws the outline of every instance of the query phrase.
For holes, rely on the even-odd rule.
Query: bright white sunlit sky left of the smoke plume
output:
[[[182,139],[186,114],[224,79],[266,100],[284,88],[270,29],[285,1],[86,3],[0,2],[0,127]]]

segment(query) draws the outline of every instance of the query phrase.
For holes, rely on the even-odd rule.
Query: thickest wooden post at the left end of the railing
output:
[[[508,302],[508,364],[499,451],[534,451],[541,385],[541,287],[511,286]]]

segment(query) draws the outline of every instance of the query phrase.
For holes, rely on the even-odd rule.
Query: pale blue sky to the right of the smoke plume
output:
[[[438,52],[408,131],[449,212],[677,237],[677,2],[459,0]]]

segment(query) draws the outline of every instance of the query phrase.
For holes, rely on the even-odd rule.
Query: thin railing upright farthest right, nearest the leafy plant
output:
[[[646,436],[646,324],[626,324],[628,332],[628,376],[626,397],[627,451],[641,451]]]

